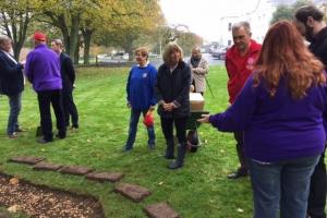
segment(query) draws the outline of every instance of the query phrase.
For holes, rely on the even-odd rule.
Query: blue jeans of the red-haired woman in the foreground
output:
[[[305,218],[310,178],[320,155],[278,162],[249,159],[254,218]]]

